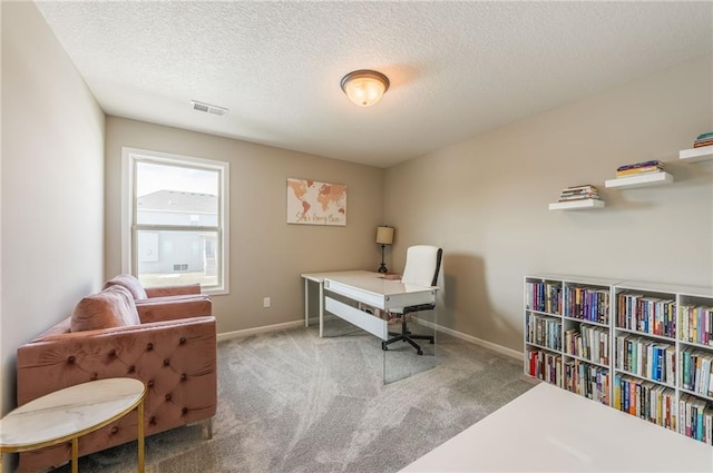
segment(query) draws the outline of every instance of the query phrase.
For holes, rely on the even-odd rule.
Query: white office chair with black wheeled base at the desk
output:
[[[414,286],[436,286],[438,280],[438,272],[441,268],[441,256],[443,250],[438,246],[431,245],[416,245],[409,247],[406,254],[406,268],[403,269],[403,277],[401,282],[403,284],[412,284]],[[408,342],[416,348],[419,355],[423,354],[419,344],[413,339],[427,339],[429,343],[433,343],[432,335],[413,335],[407,327],[407,316],[421,311],[432,311],[436,308],[436,304],[421,304],[401,308],[391,309],[391,313],[401,317],[401,333],[389,332],[393,338],[389,338],[385,342],[381,342],[381,349],[389,349],[389,345],[403,341]]]

